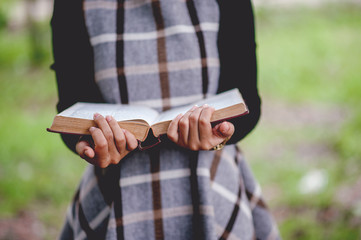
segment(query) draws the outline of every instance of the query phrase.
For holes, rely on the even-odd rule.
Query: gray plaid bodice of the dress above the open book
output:
[[[83,6],[106,101],[166,110],[216,93],[216,1],[87,0]]]

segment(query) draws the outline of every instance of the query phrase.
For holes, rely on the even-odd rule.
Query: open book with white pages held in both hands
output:
[[[232,89],[190,105],[172,108],[164,112],[139,105],[108,103],[76,103],[55,116],[53,124],[47,130],[56,133],[89,135],[89,128],[96,126],[93,114],[113,116],[121,128],[127,129],[139,141],[144,141],[150,129],[155,137],[166,134],[170,122],[179,114],[187,112],[192,106],[208,104],[215,108],[211,122],[217,123],[248,113],[238,89]]]

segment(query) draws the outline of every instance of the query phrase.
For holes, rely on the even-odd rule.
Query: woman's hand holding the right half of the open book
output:
[[[168,138],[193,151],[210,150],[234,133],[230,122],[222,122],[212,128],[210,120],[213,112],[213,107],[203,105],[194,106],[184,115],[179,114],[169,125]]]

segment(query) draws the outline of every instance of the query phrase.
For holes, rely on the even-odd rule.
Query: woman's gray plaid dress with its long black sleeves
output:
[[[234,8],[244,10],[236,15],[251,19],[239,25],[250,29],[241,38],[252,41],[250,3],[238,2],[244,3]],[[232,5],[224,9],[215,0],[56,0],[58,110],[102,101],[162,111],[238,87],[252,112],[255,74],[248,72],[255,67],[247,64],[255,59],[247,56],[254,55],[254,45],[240,53],[244,64],[223,58],[220,31],[230,31],[220,24],[233,13]],[[234,75],[222,80],[233,74],[227,71],[232,64],[241,65],[243,83]],[[260,186],[234,144],[255,118],[235,122],[233,140],[220,151],[194,152],[163,137],[157,147],[135,150],[116,166],[89,166],[60,239],[278,239]],[[63,138],[74,150],[74,137]]]

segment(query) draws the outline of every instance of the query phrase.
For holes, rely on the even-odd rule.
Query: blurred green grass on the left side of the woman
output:
[[[54,239],[85,163],[46,132],[57,90],[49,24],[36,28],[42,52],[36,64],[28,32],[0,28],[0,219],[36,212],[44,238]]]

